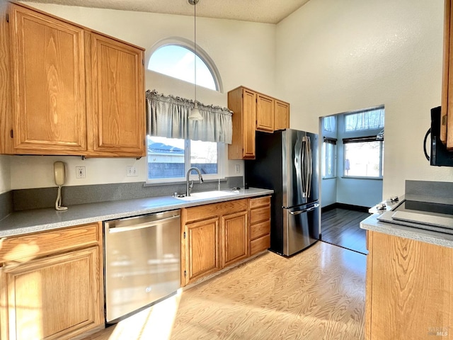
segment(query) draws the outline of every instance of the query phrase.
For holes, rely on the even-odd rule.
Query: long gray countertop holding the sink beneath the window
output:
[[[270,195],[273,190],[249,188],[242,189],[234,196],[207,198],[185,201],[173,196],[137,198],[134,200],[115,200],[101,203],[72,205],[68,210],[57,211],[53,208],[22,210],[13,212],[0,220],[0,237],[8,237],[31,232],[83,225],[91,222],[115,220],[117,218],[145,215],[196,205],[219,203],[226,200]]]

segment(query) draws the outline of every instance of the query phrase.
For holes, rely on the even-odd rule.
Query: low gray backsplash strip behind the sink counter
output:
[[[243,187],[243,177],[227,177],[220,181],[220,188],[227,189],[233,187]],[[217,190],[218,181],[205,181],[204,183],[193,184],[193,192]],[[12,210],[28,210],[39,208],[53,208],[57,199],[57,187],[51,188],[33,188],[10,191],[6,197],[1,200],[11,200],[11,207],[6,209],[6,215]],[[151,185],[144,186],[144,182],[132,183],[109,183],[96,184],[89,186],[63,186],[62,187],[62,205],[77,205],[85,203],[105,202],[109,200],[130,200],[134,198],[146,198],[156,196],[171,196],[173,193],[185,193],[185,183],[180,182],[168,185]],[[0,206],[3,208],[4,204]],[[8,205],[8,204],[5,204]],[[0,219],[6,215],[1,215]]]

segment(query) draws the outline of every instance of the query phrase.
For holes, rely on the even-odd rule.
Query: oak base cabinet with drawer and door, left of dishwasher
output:
[[[101,223],[6,237],[1,340],[74,339],[103,329]]]

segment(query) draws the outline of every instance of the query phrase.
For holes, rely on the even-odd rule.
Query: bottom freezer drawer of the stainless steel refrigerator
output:
[[[283,209],[283,255],[289,256],[319,239],[320,205]]]

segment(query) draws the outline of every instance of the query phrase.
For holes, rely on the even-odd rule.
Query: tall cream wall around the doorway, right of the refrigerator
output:
[[[422,149],[441,101],[443,2],[311,0],[277,26],[277,96],[292,128],[318,132],[321,116],[385,105],[384,198],[406,179],[453,181]]]

